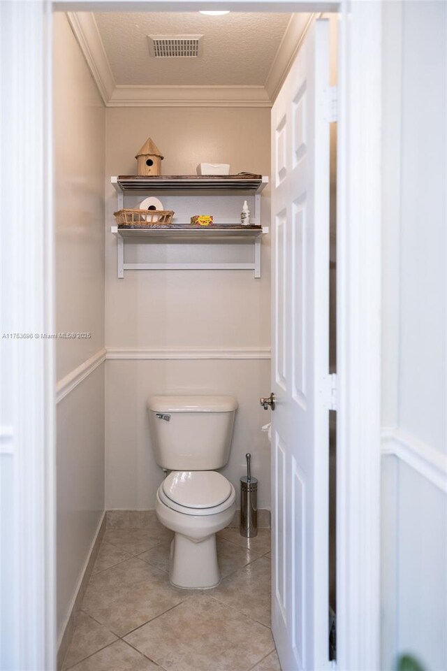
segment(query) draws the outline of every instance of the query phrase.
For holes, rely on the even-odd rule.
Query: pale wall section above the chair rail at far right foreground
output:
[[[446,13],[403,6],[399,424],[447,453]]]

